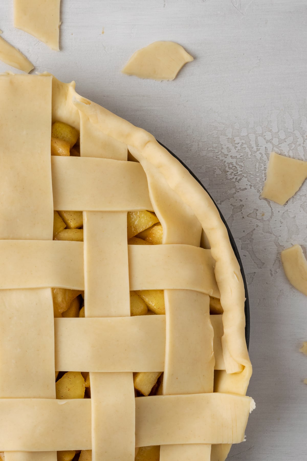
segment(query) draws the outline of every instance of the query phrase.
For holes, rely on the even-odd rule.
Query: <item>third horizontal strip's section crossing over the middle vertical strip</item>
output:
[[[164,370],[165,315],[54,319],[54,322],[58,371]],[[91,387],[92,384],[91,381]]]

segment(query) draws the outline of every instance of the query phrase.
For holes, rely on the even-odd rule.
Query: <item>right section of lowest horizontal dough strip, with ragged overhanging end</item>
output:
[[[137,447],[240,443],[249,413],[255,408],[250,397],[220,393],[137,397],[135,405]]]

